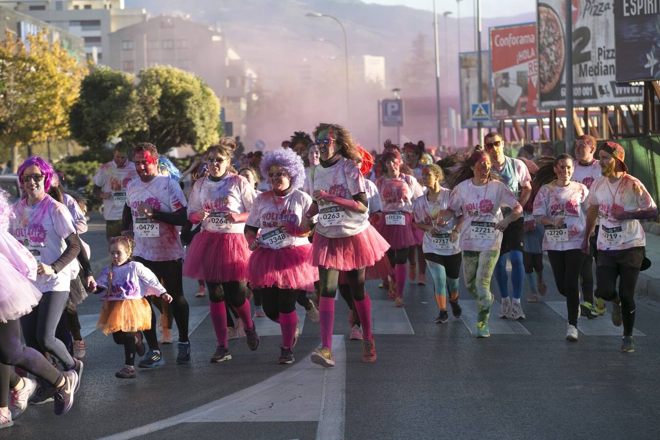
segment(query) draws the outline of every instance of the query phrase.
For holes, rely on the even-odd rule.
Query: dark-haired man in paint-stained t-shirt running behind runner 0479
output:
[[[117,142],[114,157],[103,164],[92,177],[94,195],[103,200],[103,218],[106,220],[106,238],[121,235],[121,215],[126,204],[126,185],[137,179],[137,171],[128,160],[131,148],[126,142]]]

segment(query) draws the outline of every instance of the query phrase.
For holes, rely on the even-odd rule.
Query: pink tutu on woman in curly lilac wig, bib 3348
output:
[[[257,247],[248,260],[251,288],[279,287],[314,292],[319,269],[310,264],[312,245],[296,247]]]

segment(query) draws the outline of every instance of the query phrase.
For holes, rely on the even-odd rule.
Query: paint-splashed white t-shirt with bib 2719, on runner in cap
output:
[[[630,249],[646,245],[646,236],[639,220],[615,220],[612,210],[651,210],[657,206],[644,184],[626,173],[614,183],[599,177],[591,185],[589,204],[597,204],[601,227],[598,232],[599,251]]]

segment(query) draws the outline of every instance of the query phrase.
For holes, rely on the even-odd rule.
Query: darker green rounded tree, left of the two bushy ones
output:
[[[109,67],[94,69],[82,80],[80,98],[71,107],[69,123],[73,139],[91,150],[102,150],[116,137],[135,142],[137,132],[147,129],[135,77]]]

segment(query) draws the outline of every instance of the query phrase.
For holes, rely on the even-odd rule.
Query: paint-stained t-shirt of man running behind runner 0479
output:
[[[92,177],[94,185],[101,187],[104,193],[112,193],[108,199],[103,201],[103,218],[106,220],[121,220],[123,206],[126,202],[126,187],[128,183],[137,179],[135,164],[128,160],[124,166],[117,167],[117,163],[111,160],[103,164],[98,172]]]

